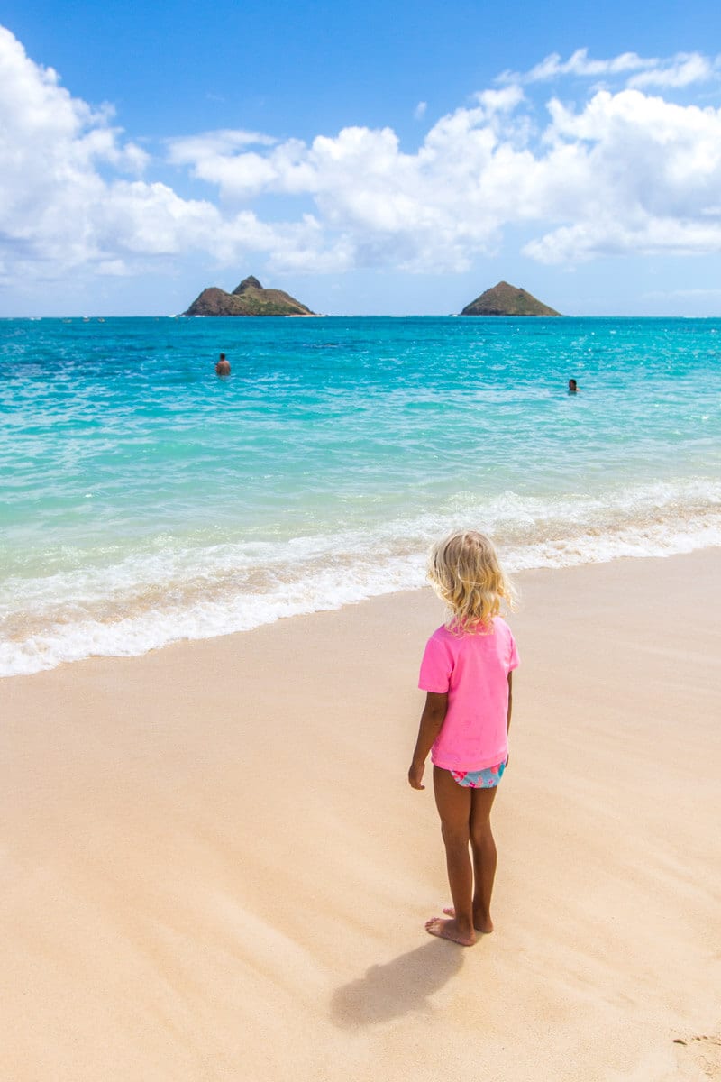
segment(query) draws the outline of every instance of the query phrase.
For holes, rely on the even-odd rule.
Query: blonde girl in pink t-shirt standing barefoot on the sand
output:
[[[511,672],[519,660],[498,616],[502,602],[511,604],[511,585],[489,539],[473,530],[433,545],[428,578],[449,616],[428,639],[420,664],[418,686],[427,697],[409,781],[425,789],[430,751],[453,908],[443,910],[449,920],[433,916],[426,928],[470,947],[476,932],[493,931],[490,816],[508,762]]]

